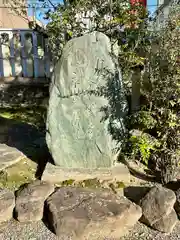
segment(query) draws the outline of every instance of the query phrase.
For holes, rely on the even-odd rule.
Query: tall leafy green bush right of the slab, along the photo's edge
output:
[[[128,116],[129,129],[137,128],[150,134],[158,144],[148,144],[141,135],[133,138],[134,148],[125,154],[134,157],[139,149],[146,164],[148,160],[154,161],[163,183],[176,178],[180,161],[179,12],[178,6],[173,8],[166,25],[152,34],[156,46],[153,41],[147,52],[148,87],[143,82],[141,89],[146,104],[141,105],[141,111]],[[132,137],[125,146],[131,142]]]

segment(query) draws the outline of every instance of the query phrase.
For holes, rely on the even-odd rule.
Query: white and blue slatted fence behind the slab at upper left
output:
[[[50,77],[47,39],[30,29],[0,28],[0,77]]]

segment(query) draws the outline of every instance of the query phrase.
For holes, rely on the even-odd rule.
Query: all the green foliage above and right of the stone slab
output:
[[[53,61],[70,39],[100,31],[118,47],[129,114],[122,156],[174,179],[180,158],[180,7],[158,29],[141,5],[123,0],[69,0],[46,13]],[[135,78],[138,76],[138,80]],[[139,88],[138,93],[133,88]],[[134,98],[134,94],[135,96]],[[132,99],[136,99],[134,110]]]

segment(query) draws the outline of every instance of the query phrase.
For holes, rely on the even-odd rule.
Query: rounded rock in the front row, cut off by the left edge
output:
[[[14,207],[14,193],[8,189],[0,189],[0,224],[4,224],[13,217]]]

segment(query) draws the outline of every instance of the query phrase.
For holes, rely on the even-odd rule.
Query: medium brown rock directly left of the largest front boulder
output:
[[[43,217],[44,201],[54,191],[50,183],[35,181],[19,189],[15,214],[19,222],[39,221]]]

